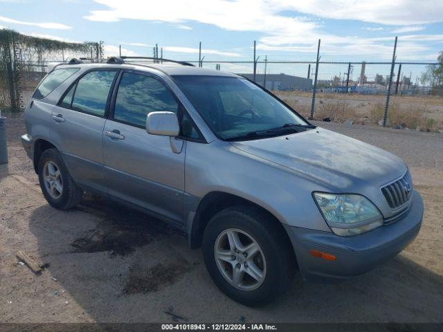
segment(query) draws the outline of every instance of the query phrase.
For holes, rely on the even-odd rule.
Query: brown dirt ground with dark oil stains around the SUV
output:
[[[51,208],[8,119],[10,163],[0,173],[0,322],[442,322],[443,135],[368,126],[323,127],[398,154],[422,194],[422,230],[400,255],[357,279],[291,288],[264,308],[221,294],[200,250],[160,221],[88,195]],[[46,264],[33,274],[24,250]]]

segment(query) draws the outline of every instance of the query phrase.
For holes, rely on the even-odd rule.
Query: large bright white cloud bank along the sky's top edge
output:
[[[443,21],[443,1],[435,0],[163,0],[156,2],[155,6],[136,0],[96,2],[109,9],[93,10],[87,19],[146,19],[170,23],[199,21],[228,30],[260,30],[260,24],[264,24],[263,28],[281,26],[278,21],[291,21],[289,17],[278,15],[283,10],[328,19],[354,19],[397,26]],[[298,21],[309,23],[306,17],[300,17]]]

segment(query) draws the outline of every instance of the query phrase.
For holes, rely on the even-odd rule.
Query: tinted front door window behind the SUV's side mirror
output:
[[[114,118],[145,127],[147,113],[170,111],[179,105],[172,93],[153,77],[124,73],[118,86]]]

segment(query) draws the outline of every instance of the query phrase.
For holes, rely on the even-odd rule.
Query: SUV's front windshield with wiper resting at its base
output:
[[[177,75],[174,80],[208,126],[223,140],[278,136],[313,127],[246,79]]]

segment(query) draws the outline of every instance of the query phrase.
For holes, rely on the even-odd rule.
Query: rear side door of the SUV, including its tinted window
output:
[[[117,70],[93,70],[66,91],[51,114],[51,138],[74,181],[106,192],[102,131]]]

